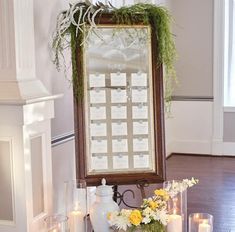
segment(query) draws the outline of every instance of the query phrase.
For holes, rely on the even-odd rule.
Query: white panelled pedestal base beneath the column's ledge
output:
[[[0,232],[39,232],[51,213],[54,101],[0,104]]]

